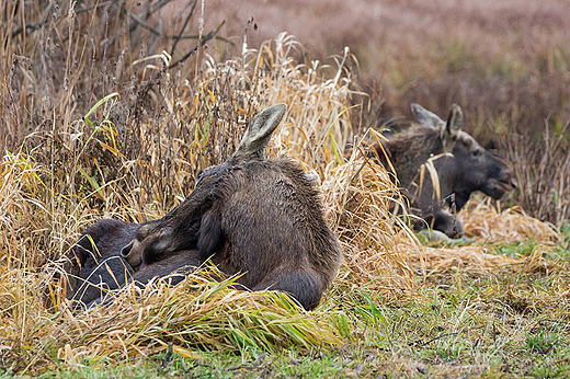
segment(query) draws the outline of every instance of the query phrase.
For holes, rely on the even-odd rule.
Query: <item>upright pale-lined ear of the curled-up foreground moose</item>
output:
[[[277,128],[286,112],[287,105],[275,104],[258,113],[246,130],[233,157],[258,156],[263,158],[271,135]]]

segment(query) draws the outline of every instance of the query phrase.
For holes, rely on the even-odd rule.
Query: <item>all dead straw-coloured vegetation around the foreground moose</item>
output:
[[[2,367],[38,372],[102,357],[117,364],[169,348],[184,357],[197,348],[330,348],[350,341],[353,328],[337,306],[339,294],[366,287],[385,299],[413,299],[430,275],[457,267],[550,267],[540,250],[521,259],[485,245],[418,243],[407,220],[390,213],[404,200],[386,170],[366,160],[363,146],[343,157],[360,112],[353,96],[362,95],[350,50],[330,65],[299,60],[301,44],[283,33],[237,44],[242,48],[230,57],[210,54],[229,51],[219,47],[228,42],[214,44],[216,27],[200,32],[196,2],[162,30],[152,1],[18,4],[0,5],[1,53],[11,57],[0,61]],[[209,49],[197,43],[205,36]],[[189,51],[195,53],[183,59]],[[163,280],[141,292],[128,288],[111,307],[81,315],[70,313],[56,286],[58,307],[45,309],[43,289],[57,260],[86,226],[164,215],[191,192],[198,170],[233,152],[252,115],[277,102],[289,112],[269,154],[289,156],[319,174],[346,254],[317,311],[203,276],[173,288]],[[480,202],[461,218],[481,243],[532,238],[549,249],[561,239],[523,211],[498,213]]]

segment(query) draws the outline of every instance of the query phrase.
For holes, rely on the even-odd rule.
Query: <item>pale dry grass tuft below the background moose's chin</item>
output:
[[[535,240],[554,245],[563,240],[560,231],[552,225],[528,216],[518,206],[498,210],[490,198],[485,202],[470,200],[461,209],[459,217],[465,227],[465,236],[481,242],[516,243]]]

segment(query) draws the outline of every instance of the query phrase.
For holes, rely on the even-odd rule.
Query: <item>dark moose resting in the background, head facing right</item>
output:
[[[411,104],[411,110],[417,124],[373,148],[380,162],[394,169],[402,194],[423,220],[414,228],[428,225],[448,238],[458,238],[463,225],[457,216],[445,213],[444,206],[459,211],[476,191],[499,199],[515,188],[516,182],[506,161],[461,130],[464,117],[458,105],[453,104],[446,122],[419,104]]]

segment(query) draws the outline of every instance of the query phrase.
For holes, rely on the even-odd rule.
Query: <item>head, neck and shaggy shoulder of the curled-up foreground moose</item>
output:
[[[226,163],[205,170],[179,207],[140,228],[123,250],[128,262],[151,265],[197,250],[221,272],[242,273],[238,283],[252,290],[286,291],[317,307],[342,252],[312,181],[297,163],[263,156],[285,112],[275,105],[260,113]]]

